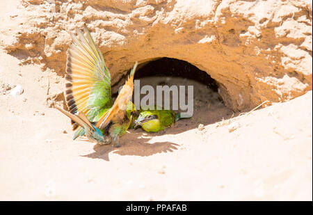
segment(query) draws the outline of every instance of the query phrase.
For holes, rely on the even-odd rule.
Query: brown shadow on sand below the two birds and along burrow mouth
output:
[[[175,122],[172,127],[164,129],[157,133],[147,133],[142,129],[129,129],[129,131],[120,138],[120,148],[110,145],[96,144],[93,148],[95,152],[83,155],[92,159],[104,159],[109,161],[109,153],[113,152],[120,155],[136,155],[141,157],[151,156],[161,152],[173,152],[179,148],[179,144],[169,141],[150,143],[155,136],[164,134],[180,134],[191,129],[195,129],[199,124],[210,125],[228,119],[232,116],[232,111],[225,106],[217,107],[207,111],[203,116],[204,110],[196,111],[192,118],[186,118]],[[239,113],[238,113],[239,114]],[[236,114],[237,115],[237,114]]]

